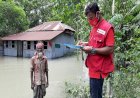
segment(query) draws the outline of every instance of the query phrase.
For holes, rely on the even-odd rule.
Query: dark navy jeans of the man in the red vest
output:
[[[102,87],[104,79],[90,78],[90,95],[91,98],[102,98]]]

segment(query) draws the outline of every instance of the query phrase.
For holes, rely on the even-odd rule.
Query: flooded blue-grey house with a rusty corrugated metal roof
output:
[[[60,21],[45,22],[25,32],[3,37],[3,55],[32,57],[37,41],[43,41],[47,58],[61,57],[73,51],[63,43],[74,44],[74,32],[74,29]]]

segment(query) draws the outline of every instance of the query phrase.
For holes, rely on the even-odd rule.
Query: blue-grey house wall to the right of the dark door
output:
[[[56,58],[61,57],[67,52],[72,52],[72,49],[66,48],[65,46],[61,45],[60,48],[56,48],[55,44],[63,44],[63,43],[70,43],[74,44],[74,37],[68,34],[62,33],[52,41],[48,41],[51,43],[52,46],[47,46],[47,49],[44,49],[44,53],[47,58]],[[31,49],[27,49],[27,41],[23,42],[23,57],[32,57],[35,53],[34,49],[34,41],[31,42]]]

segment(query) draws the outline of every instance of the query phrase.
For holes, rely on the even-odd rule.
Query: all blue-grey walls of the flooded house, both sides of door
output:
[[[62,33],[54,38],[52,41],[48,41],[51,43],[51,46],[47,46],[47,49],[44,49],[44,53],[47,58],[56,58],[61,57],[67,52],[72,52],[72,49],[66,48],[63,45],[60,45],[60,48],[56,48],[55,44],[74,44],[74,36]],[[12,48],[12,41],[8,41],[8,47],[6,47],[6,41],[4,41],[4,55],[5,56],[17,56],[17,41],[15,41],[15,47]],[[35,53],[35,43],[34,41],[30,41],[30,49],[27,49],[27,41],[23,41],[23,57],[32,57]],[[22,51],[22,50],[21,50]]]

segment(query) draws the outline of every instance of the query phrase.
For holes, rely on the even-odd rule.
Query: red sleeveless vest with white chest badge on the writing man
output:
[[[105,39],[111,28],[113,28],[112,25],[103,19],[91,30],[88,45],[94,48],[105,47]],[[85,64],[89,68],[90,77],[94,77],[94,72],[110,73],[114,71],[113,54],[88,54]]]

